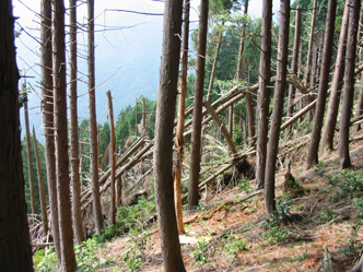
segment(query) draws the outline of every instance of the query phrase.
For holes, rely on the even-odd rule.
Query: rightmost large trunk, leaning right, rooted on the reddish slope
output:
[[[361,9],[360,0],[352,0],[350,2],[349,14],[349,29],[348,29],[348,45],[346,59],[346,74],[343,86],[343,103],[341,110],[341,119],[339,126],[339,161],[340,168],[344,169],[351,166],[349,155],[349,127],[350,116],[353,106],[354,96],[354,66],[355,66],[355,50],[356,50],[356,32],[359,25],[359,15]]]

